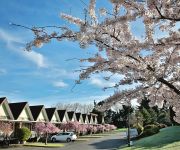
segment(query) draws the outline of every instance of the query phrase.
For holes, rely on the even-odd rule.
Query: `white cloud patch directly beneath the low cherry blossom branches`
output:
[[[96,85],[98,87],[104,88],[104,87],[112,87],[114,86],[116,83],[112,82],[112,81],[106,81],[97,77],[92,77],[90,79],[90,84],[92,85]]]

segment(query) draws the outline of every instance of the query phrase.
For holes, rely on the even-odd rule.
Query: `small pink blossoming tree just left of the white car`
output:
[[[36,123],[35,125],[36,132],[41,135],[43,134],[46,138],[45,144],[47,144],[48,136],[51,133],[57,133],[59,132],[59,128],[57,128],[54,124],[48,122],[48,123]]]

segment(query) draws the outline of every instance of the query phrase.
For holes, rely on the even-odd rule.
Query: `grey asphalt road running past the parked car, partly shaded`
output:
[[[93,138],[89,141],[65,143],[65,147],[62,148],[22,147],[13,148],[13,150],[115,150],[125,143],[125,133],[116,133],[102,138]]]

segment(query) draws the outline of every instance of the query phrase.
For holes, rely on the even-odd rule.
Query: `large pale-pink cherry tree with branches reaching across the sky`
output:
[[[60,15],[77,25],[79,31],[58,26],[51,26],[57,29],[53,33],[49,33],[47,27],[28,28],[35,37],[26,50],[41,47],[52,39],[78,41],[81,48],[95,45],[99,51],[94,57],[80,59],[92,62],[92,66],[82,68],[80,80],[93,73],[110,72],[106,80],[115,74],[122,77],[114,88],[137,84],[106,99],[105,108],[119,101],[141,100],[146,95],[151,105],[167,100],[176,111],[176,120],[180,121],[180,1],[110,0],[110,3],[112,11],[98,10],[96,0],[90,0],[84,19]],[[137,22],[142,28],[139,34],[134,32]]]

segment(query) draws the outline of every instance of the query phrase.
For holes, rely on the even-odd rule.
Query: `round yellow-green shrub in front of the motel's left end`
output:
[[[17,130],[16,136],[19,139],[19,141],[27,141],[31,136],[31,131],[26,127],[22,127]]]

